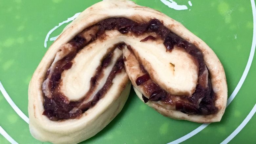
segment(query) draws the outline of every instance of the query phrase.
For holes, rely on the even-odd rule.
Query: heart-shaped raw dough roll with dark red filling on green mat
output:
[[[70,23],[38,65],[30,131],[53,143],[88,139],[121,111],[131,83],[171,118],[216,122],[226,107],[223,66],[200,38],[159,11],[105,0]]]

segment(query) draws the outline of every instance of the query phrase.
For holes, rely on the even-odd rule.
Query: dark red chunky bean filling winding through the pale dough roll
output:
[[[112,85],[112,80],[115,75],[121,72],[124,69],[124,60],[120,57],[117,60],[117,63],[113,67],[111,73],[109,74],[106,83],[103,88],[98,91],[96,95],[94,95],[93,101],[84,104],[77,110],[75,113],[71,113],[71,110],[77,107],[82,101],[86,98],[83,97],[78,101],[68,101],[67,97],[59,92],[57,86],[61,82],[61,73],[64,70],[68,70],[72,67],[72,60],[76,56],[76,54],[83,49],[86,45],[91,43],[92,41],[100,38],[104,38],[105,31],[117,30],[121,34],[132,33],[135,36],[139,36],[143,33],[154,32],[156,33],[162,40],[164,40],[164,46],[166,47],[166,52],[171,52],[174,45],[183,48],[187,53],[192,55],[198,61],[199,67],[199,76],[203,74],[205,70],[205,64],[203,62],[203,54],[201,51],[197,49],[197,47],[186,40],[182,39],[168,28],[166,28],[158,19],[151,19],[147,23],[137,23],[135,21],[129,20],[127,18],[108,18],[96,23],[94,26],[98,26],[98,30],[95,35],[91,35],[93,38],[90,41],[87,41],[81,33],[77,34],[71,41],[68,43],[72,45],[75,51],[70,52],[67,56],[56,62],[53,74],[49,81],[49,89],[51,90],[52,97],[48,98],[44,94],[44,115],[46,115],[50,120],[62,120],[62,119],[74,119],[81,116],[82,113],[93,107],[97,101],[104,96],[104,94],[108,91],[108,89]],[[156,38],[153,36],[148,36],[145,39],[142,39],[141,42],[147,40],[155,40]],[[121,43],[117,45],[117,48],[122,49],[125,44]],[[157,50],[156,50],[157,51]],[[112,54],[109,53],[103,60],[101,66],[99,66],[96,70],[96,74],[91,78],[91,88],[92,89],[97,81],[100,78],[100,73],[104,68],[106,68],[112,58]],[[143,66],[142,66],[143,67]],[[145,70],[143,70],[145,71]],[[146,71],[145,71],[146,72]],[[45,79],[49,75],[49,70],[46,73]],[[209,74],[210,75],[210,74]],[[155,84],[149,77],[149,75],[138,78],[136,82],[138,84],[148,84],[150,86],[151,96],[149,99],[143,97],[144,101],[170,101],[172,95],[166,93],[162,90],[157,84]],[[202,86],[197,85],[195,93],[190,98],[186,96],[182,97],[182,101],[176,102],[176,110],[179,110],[183,113],[193,113],[193,114],[202,114],[208,115],[212,113],[216,113],[218,108],[214,106],[215,96],[214,92],[211,88],[210,77],[208,77],[208,88],[205,90]],[[198,106],[199,99],[202,99]],[[186,102],[186,101],[189,101]]]

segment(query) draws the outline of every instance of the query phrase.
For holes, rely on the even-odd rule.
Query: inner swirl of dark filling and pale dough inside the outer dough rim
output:
[[[154,55],[144,52],[149,47],[142,45],[150,43],[164,47],[150,48],[163,53],[158,56],[163,62],[154,64]],[[165,61],[169,59],[171,62]],[[171,74],[166,75],[170,70]],[[188,114],[218,111],[203,53],[194,44],[158,19],[137,23],[127,18],[108,18],[77,34],[56,53],[42,84],[43,114],[53,121],[80,117],[107,93],[113,79],[125,72],[143,94],[145,103],[156,101]],[[79,87],[72,87],[69,81]]]

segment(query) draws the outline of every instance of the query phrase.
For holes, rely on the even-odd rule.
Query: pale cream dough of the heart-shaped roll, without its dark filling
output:
[[[122,70],[121,73],[118,73],[112,81],[113,85],[109,88],[104,97],[99,99],[95,106],[82,113],[80,117],[52,121],[46,115],[42,114],[45,111],[44,95],[47,93],[47,90],[45,89],[43,92],[42,87],[46,79],[47,70],[51,68],[54,62],[60,60],[65,56],[65,54],[67,54],[65,53],[66,50],[70,52],[68,48],[65,48],[67,47],[66,44],[68,44],[81,31],[94,26],[98,22],[108,18],[119,17],[127,18],[137,23],[146,23],[152,19],[158,19],[170,31],[189,43],[194,44],[203,53],[203,61],[210,72],[212,89],[216,94],[215,106],[218,108],[218,112],[210,115],[186,114],[181,111],[173,110],[170,107],[160,105],[158,101],[148,101],[146,104],[156,109],[159,113],[175,119],[184,119],[199,123],[216,122],[221,120],[226,107],[227,84],[223,66],[216,54],[200,38],[181,25],[181,23],[159,11],[136,5],[134,2],[128,0],[104,0],[84,10],[64,29],[46,52],[34,72],[29,85],[28,110],[30,117],[29,127],[31,134],[35,138],[41,141],[50,141],[52,143],[78,143],[94,136],[121,111],[130,92],[131,83],[129,78],[134,86],[135,92],[142,100],[141,93],[144,92],[140,92],[140,88],[136,84],[136,79],[133,77],[134,72],[131,67],[129,67],[128,61],[126,61],[126,71]],[[81,99],[81,97],[89,91],[86,89],[88,89],[87,87],[90,84],[91,75],[95,73],[96,66],[100,65],[96,57],[98,56],[98,59],[102,59],[106,53],[109,52],[107,50],[100,51],[102,49],[96,50],[96,46],[103,43],[101,47],[109,49],[117,43],[124,42],[126,44],[122,50],[124,59],[126,58],[125,55],[127,53],[129,54],[127,46],[131,46],[134,54],[140,58],[140,62],[148,66],[145,68],[149,73],[150,78],[163,90],[171,94],[186,95],[187,97],[190,97],[195,92],[198,81],[198,69],[196,64],[193,63],[193,58],[184,59],[181,57],[179,61],[173,62],[177,63],[177,67],[181,64],[181,68],[184,68],[184,70],[182,71],[181,69],[180,72],[181,75],[185,77],[185,80],[177,81],[177,84],[175,84],[173,83],[175,82],[175,78],[173,79],[173,76],[169,76],[165,79],[163,74],[166,74],[168,70],[159,70],[158,68],[161,66],[159,64],[161,63],[154,62],[145,55],[145,51],[148,51],[146,48],[150,45],[151,48],[161,47],[161,51],[156,52],[155,55],[161,54],[164,48],[161,43],[162,40],[156,40],[154,42],[149,40],[144,43],[140,42],[141,39],[148,35],[148,33],[144,33],[139,36],[134,36],[130,34],[122,34],[118,31],[105,31],[105,36],[102,39],[96,39],[79,51],[72,61],[72,67],[62,73],[62,84],[60,87],[61,92],[65,93],[69,101]],[[93,38],[91,37],[91,39]],[[89,51],[94,48],[96,52]],[[176,54],[175,51],[177,52]],[[152,51],[148,52],[154,54]],[[190,57],[186,52],[180,51],[178,48],[174,48],[171,52],[169,51],[166,53],[168,53],[167,55],[171,54],[171,57],[173,58],[177,58],[179,55]],[[79,55],[81,56],[79,57]],[[81,60],[83,60],[83,55],[89,57],[86,57],[85,62],[82,63]],[[159,57],[159,59],[163,61],[166,59],[169,60],[168,57],[160,58],[165,55],[166,54],[158,55],[156,58]],[[81,62],[81,64],[79,62]],[[183,62],[191,64],[190,67],[187,68]],[[91,68],[91,66],[94,66],[94,68]],[[77,72],[78,70],[79,72]],[[83,74],[82,70],[89,73],[91,71],[93,72],[91,72],[91,75],[87,75]],[[170,68],[170,70],[172,70],[172,68]],[[70,75],[72,77],[69,77]],[[189,83],[184,83],[186,81],[189,81]],[[85,90],[82,88],[85,88]]]

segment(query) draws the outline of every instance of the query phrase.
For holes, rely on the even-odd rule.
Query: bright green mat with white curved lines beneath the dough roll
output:
[[[49,35],[45,48],[47,33],[75,13],[99,1],[0,0],[1,144],[9,141],[20,144],[42,143],[32,137],[26,122],[28,84],[43,55],[53,43],[50,38],[57,36],[68,23]],[[202,125],[164,117],[140,101],[131,90],[117,117],[101,132],[82,143],[215,144],[230,141],[255,144],[255,1],[190,0],[189,3],[188,0],[174,0],[179,5],[185,5],[187,10],[169,8],[160,0],[134,1],[181,22],[213,49],[225,69],[230,104],[221,122]]]

